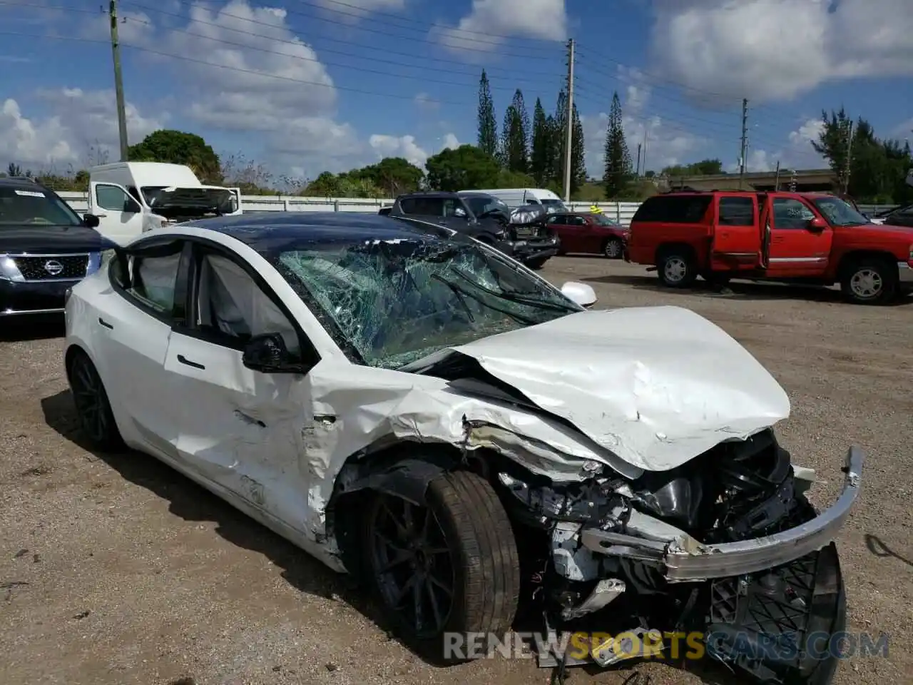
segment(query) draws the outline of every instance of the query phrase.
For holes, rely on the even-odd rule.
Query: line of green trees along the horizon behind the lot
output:
[[[323,172],[310,181],[288,175],[274,176],[266,166],[243,154],[220,157],[201,136],[170,130],[150,133],[142,142],[131,145],[128,156],[131,161],[186,164],[205,184],[240,187],[245,195],[367,198],[394,197],[418,189],[456,191],[496,187],[549,188],[561,195],[567,110],[567,94],[561,90],[552,112],[546,112],[537,98],[530,121],[523,93],[516,90],[498,134],[488,76],[483,70],[478,89],[477,143],[434,154],[425,161],[425,169],[402,157],[384,157],[377,163],[341,174]],[[659,174],[635,173],[624,134],[621,101],[614,93],[605,132],[603,177],[601,182],[588,181],[582,123],[576,106],[570,116],[574,131],[573,199],[638,200],[658,192],[657,175],[681,178],[723,173],[719,159],[667,166]],[[908,142],[877,137],[868,121],[862,118],[853,121],[843,109],[823,111],[822,119],[823,130],[811,144],[830,164],[835,192],[842,191],[848,183],[848,195],[857,202],[913,203],[913,187],[906,184],[908,171],[913,168]],[[90,165],[109,161],[98,148],[90,153],[93,157]],[[788,174],[789,170],[782,170],[784,184]],[[89,172],[85,169],[33,172],[9,163],[5,174],[0,173],[4,175],[32,176],[60,191],[89,189]]]

